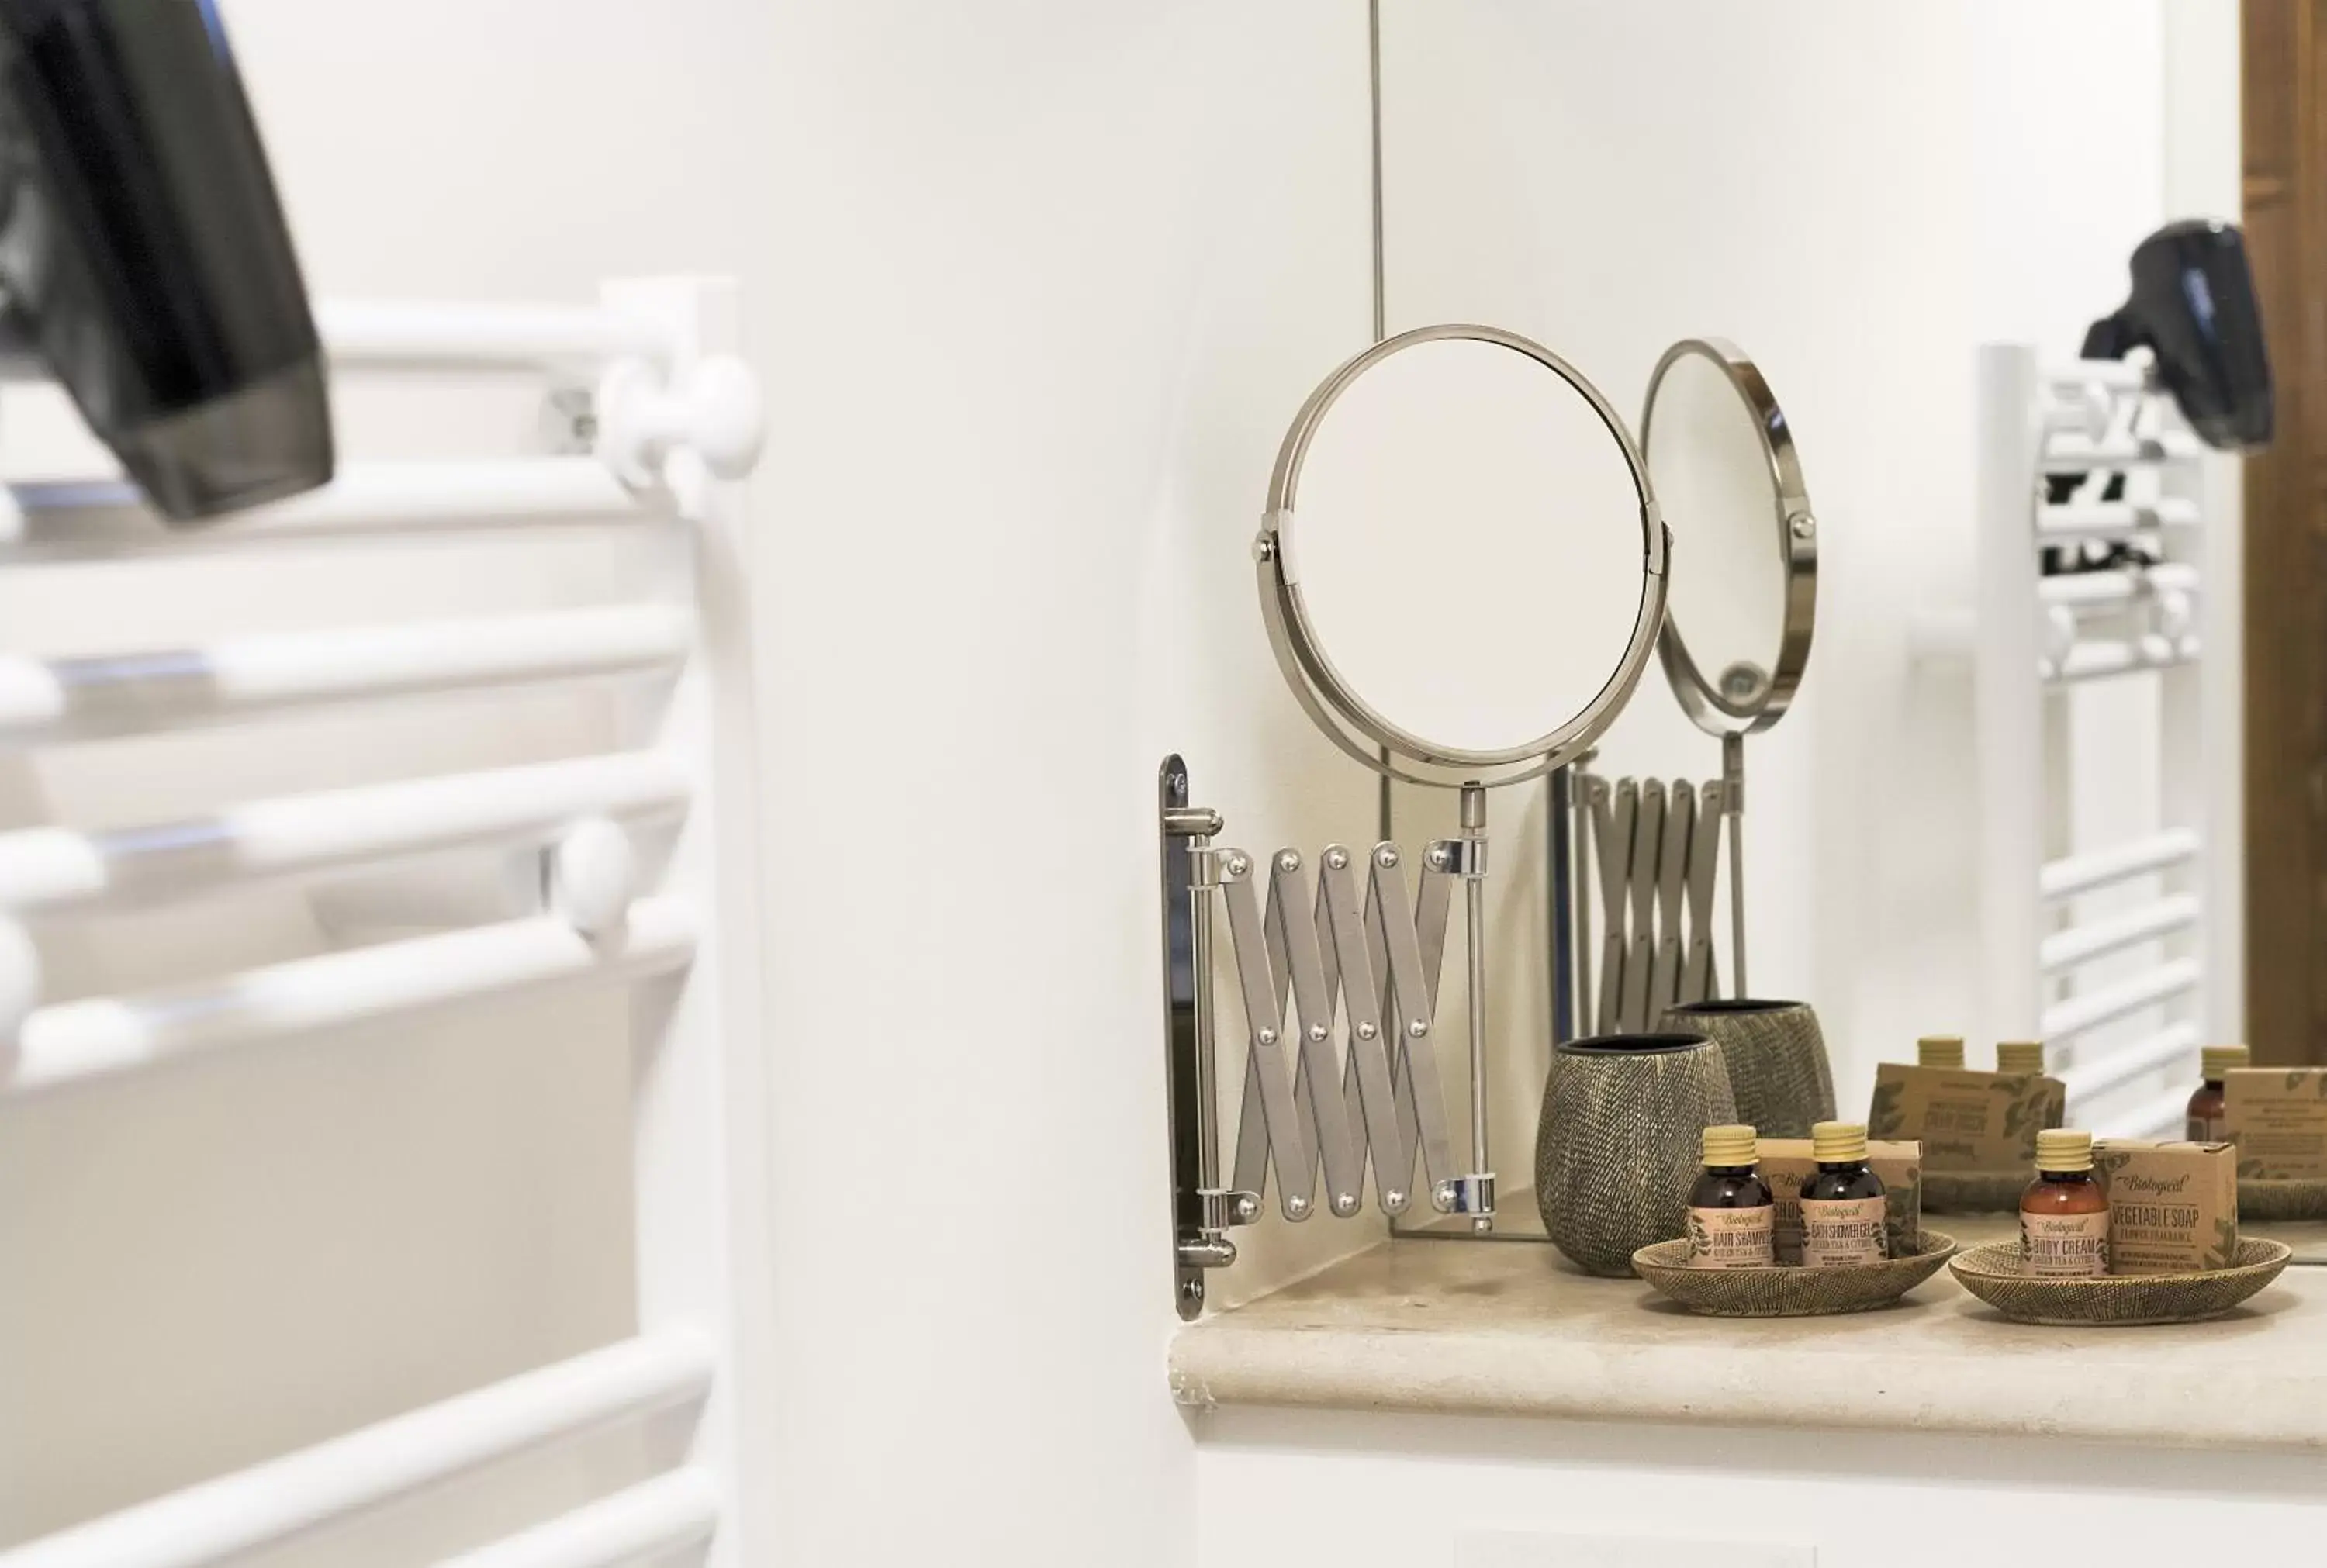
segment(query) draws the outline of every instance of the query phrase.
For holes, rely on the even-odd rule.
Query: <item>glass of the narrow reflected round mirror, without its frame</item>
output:
[[[1671,635],[1724,703],[1752,712],[1785,635],[1778,477],[1762,421],[1713,358],[1682,354],[1657,382],[1643,442],[1673,530]]]

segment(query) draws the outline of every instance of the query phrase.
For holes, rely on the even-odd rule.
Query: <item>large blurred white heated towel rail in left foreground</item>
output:
[[[254,724],[284,710],[433,700],[545,682],[621,682],[631,749],[442,777],[279,793],[193,821],[0,833],[0,1098],[172,1068],[216,1052],[598,986],[628,1005],[638,1335],[279,1454],[0,1552],[0,1568],[205,1568],[386,1503],[426,1505],[491,1463],[649,1417],[689,1426],[673,1468],[479,1542],[458,1568],[589,1568],[691,1552],[763,1561],[745,1480],[740,1291],[759,1277],[752,693],[742,496],[759,405],[731,358],[733,291],[614,284],[593,307],[319,309],[335,375],[433,370],[598,386],[593,456],[347,463],[314,496],[165,528],[119,482],[23,484],[0,500],[0,568],[56,558],[293,549],[531,526],[656,530],[668,565],[635,603],[140,647],[0,654],[0,749]],[[642,835],[633,842],[633,835]],[[652,840],[654,849],[647,849]],[[107,919],[261,879],[486,849],[535,856],[535,907],[154,993],[44,996],[28,921]],[[447,905],[451,907],[451,905]],[[661,979],[649,989],[647,982]],[[398,1049],[393,1031],[382,1052]],[[349,1354],[363,1354],[349,1342]]]

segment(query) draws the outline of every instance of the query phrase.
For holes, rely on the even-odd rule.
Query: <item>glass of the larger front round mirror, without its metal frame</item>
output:
[[[1392,354],[1326,409],[1291,561],[1319,651],[1394,726],[1492,751],[1608,684],[1641,612],[1641,496],[1592,402],[1492,342]]]

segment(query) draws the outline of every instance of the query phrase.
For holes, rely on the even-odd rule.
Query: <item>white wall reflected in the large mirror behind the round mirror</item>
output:
[[[1627,414],[1664,344],[1717,333],[1785,402],[1820,623],[1794,712],[1748,742],[1752,986],[1820,1005],[1845,1107],[1917,1033],[1980,1033],[1969,679],[1913,668],[1908,623],[1971,591],[1973,347],[2073,354],[2169,214],[2169,14],[2190,202],[2236,158],[2227,7],[1385,7],[1392,328],[1515,326]],[[2076,721],[2148,772],[2087,756],[2076,833],[2106,842],[2155,817],[2155,691],[2078,693]],[[1603,768],[1715,758],[1652,672]],[[1538,952],[1524,928],[1513,961]],[[1540,986],[1503,1000],[1540,1033]],[[1531,1114],[1515,1098],[1499,1142]]]

